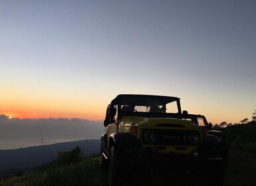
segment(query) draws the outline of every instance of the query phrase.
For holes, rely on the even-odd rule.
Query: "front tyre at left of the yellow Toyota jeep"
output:
[[[116,144],[110,148],[110,159],[109,159],[109,185],[120,186],[123,185],[124,179],[122,175],[125,175],[125,161],[122,161],[122,151]]]

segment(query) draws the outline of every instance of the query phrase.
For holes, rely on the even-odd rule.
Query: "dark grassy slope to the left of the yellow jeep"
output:
[[[100,171],[96,155],[85,157],[79,163],[70,165],[59,165],[58,162],[53,162],[40,169],[0,179],[0,184],[3,186],[89,186],[106,185],[107,183],[108,175]]]

